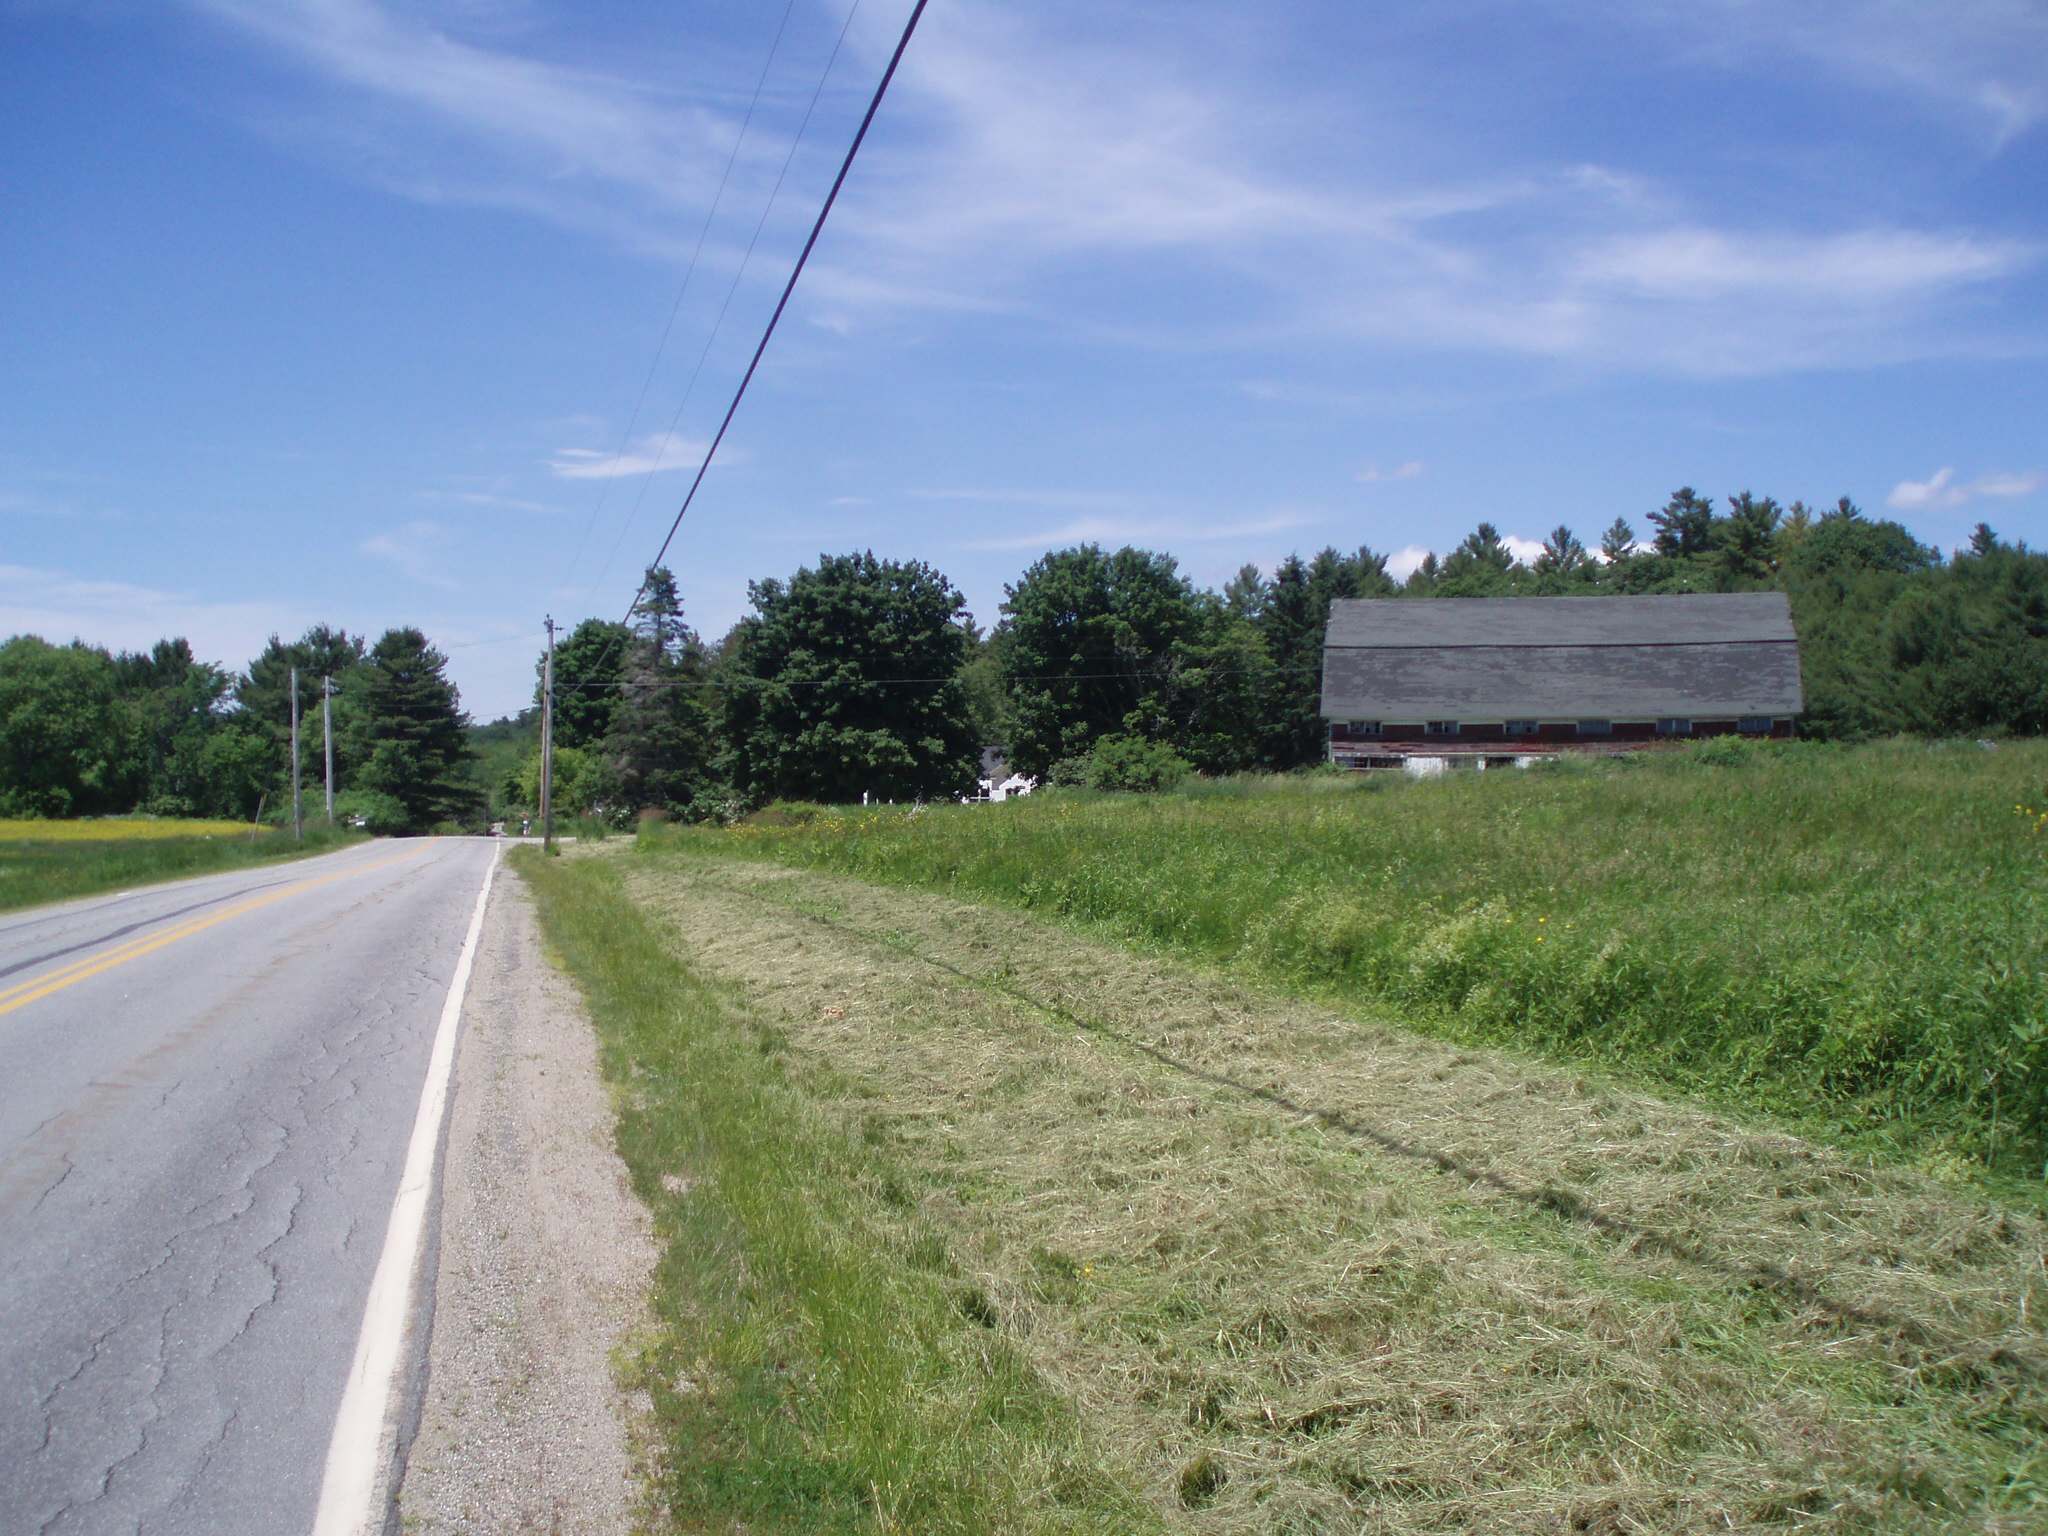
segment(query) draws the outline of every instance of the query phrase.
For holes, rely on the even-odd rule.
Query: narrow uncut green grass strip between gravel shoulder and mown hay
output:
[[[512,858],[596,1022],[618,1149],[655,1221],[653,1333],[627,1384],[653,1403],[649,1470],[670,1516],[688,1530],[1149,1530],[1073,1411],[979,1321],[891,1153],[819,1108],[854,1090],[797,1065],[774,1026],[700,979],[610,860]]]

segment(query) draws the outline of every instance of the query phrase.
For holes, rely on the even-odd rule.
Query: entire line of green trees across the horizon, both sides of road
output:
[[[1559,526],[1520,561],[1481,522],[1405,580],[1372,549],[1323,549],[1270,575],[1247,565],[1221,590],[1165,553],[1077,545],[1010,584],[991,629],[924,561],[825,555],[750,584],[752,612],[709,643],[655,567],[627,623],[586,618],[557,649],[555,799],[684,819],[770,799],[936,799],[969,793],[989,745],[1020,772],[1106,786],[1303,768],[1323,758],[1337,598],[1784,590],[1804,733],[2048,729],[2048,555],[1982,524],[1942,555],[1847,500],[1815,512],[1747,492],[1716,506],[1686,487],[1647,524],[1638,539],[1616,520],[1591,549]],[[182,639],[145,653],[6,641],[0,815],[274,811],[289,795],[293,666],[309,784],[319,678],[336,680],[346,815],[403,831],[539,801],[530,711],[471,727],[418,629],[369,643],[315,627],[270,637],[242,674]]]

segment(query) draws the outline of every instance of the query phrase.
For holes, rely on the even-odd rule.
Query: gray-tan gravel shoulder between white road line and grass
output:
[[[408,1532],[629,1532],[635,1423],[612,1358],[645,1321],[655,1247],[612,1145],[596,1038],[498,879],[457,1057],[440,1276]]]

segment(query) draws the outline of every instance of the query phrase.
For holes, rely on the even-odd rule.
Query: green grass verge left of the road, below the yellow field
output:
[[[176,836],[166,834],[164,823],[145,823],[150,834],[141,838],[70,838],[61,831],[66,825],[51,823],[49,838],[0,840],[0,911],[70,901],[129,885],[176,881],[184,874],[281,864],[326,854],[362,838],[358,831],[326,827],[317,831],[307,827],[305,842],[295,842],[289,831],[264,831],[254,840],[248,831]],[[117,825],[106,821],[96,823],[96,829]]]

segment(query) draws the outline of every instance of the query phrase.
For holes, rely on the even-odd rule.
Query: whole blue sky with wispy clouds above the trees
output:
[[[0,635],[418,623],[516,709],[907,10],[0,0]],[[717,635],[819,551],[993,623],[1079,539],[1219,584],[1681,483],[2048,543],[2044,119],[2040,0],[932,0],[670,563]]]

